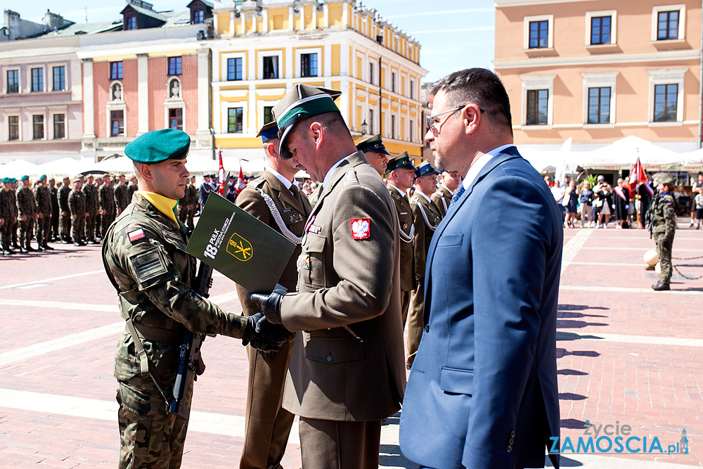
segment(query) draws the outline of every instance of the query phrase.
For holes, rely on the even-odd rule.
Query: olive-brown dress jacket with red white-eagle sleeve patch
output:
[[[333,170],[306,226],[299,293],[280,307],[297,331],[283,407],[323,420],[391,416],[406,383],[398,217],[362,152]]]

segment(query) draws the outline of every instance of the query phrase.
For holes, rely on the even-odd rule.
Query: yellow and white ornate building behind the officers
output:
[[[355,139],[380,133],[391,153],[420,159],[420,44],[375,10],[350,0],[249,0],[212,11],[212,128],[224,156],[262,158],[259,128],[304,83],[342,91],[337,105]]]

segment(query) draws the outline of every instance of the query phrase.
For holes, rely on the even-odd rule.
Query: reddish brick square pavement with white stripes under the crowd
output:
[[[562,465],[701,466],[703,280],[676,274],[671,292],[652,291],[657,275],[642,262],[654,246],[648,233],[612,228],[565,230],[557,325],[562,448],[565,437],[574,449],[579,436],[587,438],[588,420],[595,428],[630,425],[631,436],[647,437],[647,446],[657,437],[664,451],[685,428],[690,454],[565,454]],[[701,231],[680,229],[674,257],[703,256],[702,240]],[[124,324],[100,248],[54,247],[0,257],[0,468],[114,468],[112,357]],[[683,274],[703,274],[703,259],[674,264]],[[240,311],[233,283],[217,273],[212,299]],[[239,340],[208,338],[203,356],[207,372],[195,384],[183,468],[236,468],[245,349]],[[381,466],[415,468],[398,449],[398,420],[384,425]],[[293,430],[285,468],[300,468],[297,425]]]

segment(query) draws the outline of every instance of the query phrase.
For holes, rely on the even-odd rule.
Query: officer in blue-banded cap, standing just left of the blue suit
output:
[[[408,356],[406,366],[413,366],[415,354],[423,337],[423,310],[425,309],[425,260],[430,250],[430,240],[434,229],[441,221],[439,207],[432,202],[432,194],[437,188],[437,169],[425,160],[418,166],[415,178],[415,193],[410,200],[413,210],[415,236],[413,236],[413,252],[415,253],[415,280],[418,285],[413,291],[410,314],[408,314]]]

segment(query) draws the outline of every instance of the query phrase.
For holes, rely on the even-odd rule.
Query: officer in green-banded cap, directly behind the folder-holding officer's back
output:
[[[413,186],[415,171],[418,169],[410,161],[408,152],[394,156],[386,167],[388,192],[395,203],[398,221],[400,223],[400,289],[403,323],[408,318],[410,299],[415,290],[415,255],[413,253],[413,211],[408,200],[408,189]]]

